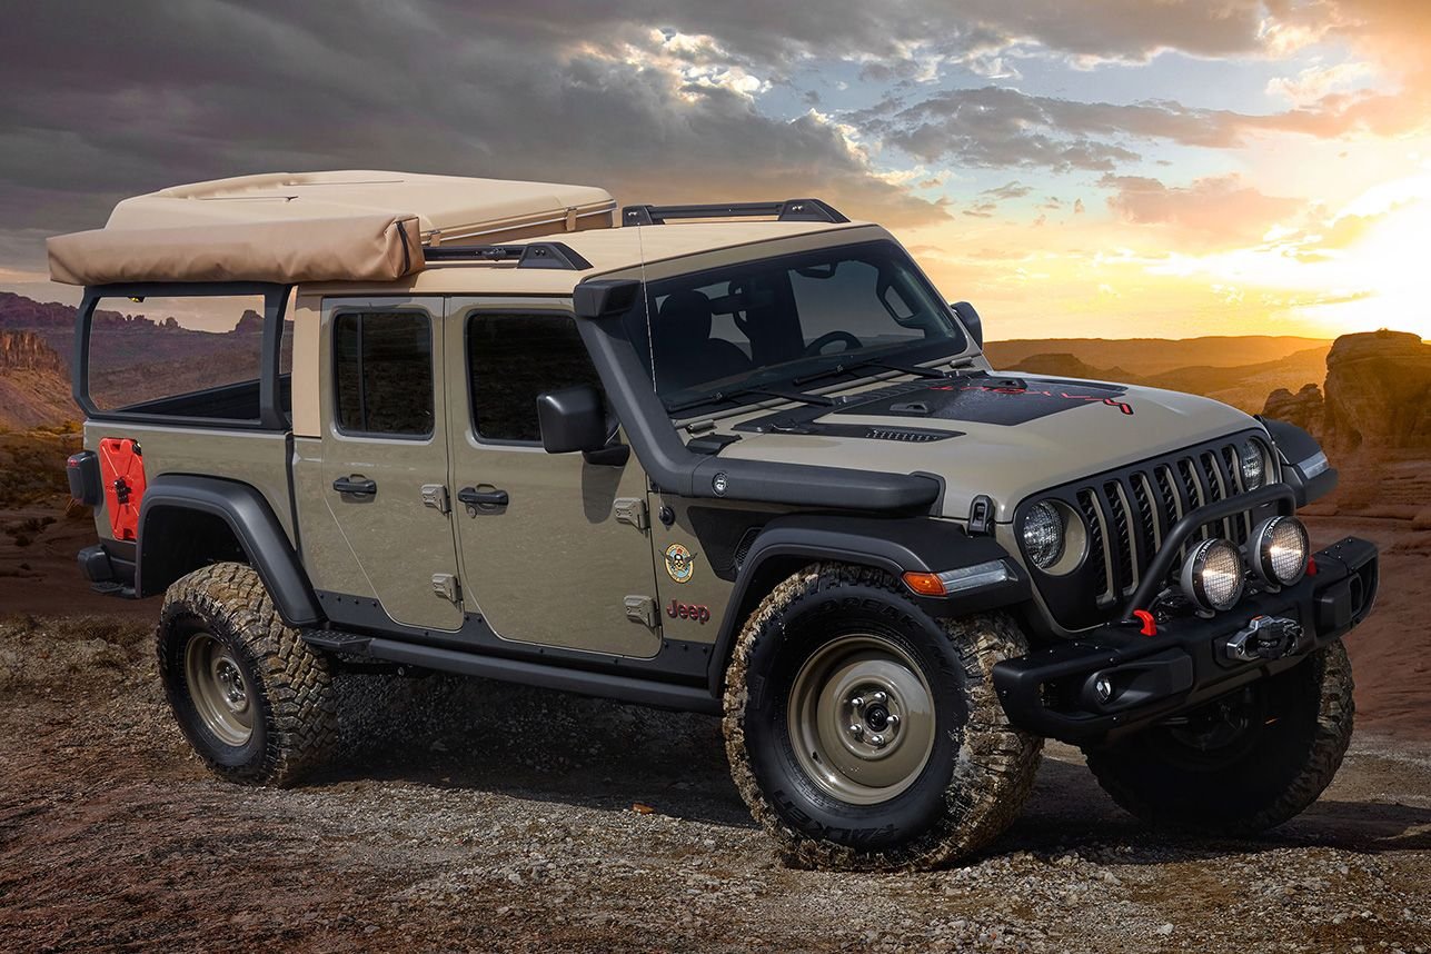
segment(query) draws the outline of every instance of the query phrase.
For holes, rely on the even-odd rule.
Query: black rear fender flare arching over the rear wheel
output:
[[[268,588],[283,622],[311,626],[323,619],[308,574],[263,495],[238,481],[187,473],[160,475],[145,491],[135,565],[135,591],[139,596],[152,596],[159,586],[167,585],[145,579],[145,564],[157,562],[165,546],[163,539],[156,539],[146,531],[152,526],[150,521],[165,511],[193,511],[222,519]]]

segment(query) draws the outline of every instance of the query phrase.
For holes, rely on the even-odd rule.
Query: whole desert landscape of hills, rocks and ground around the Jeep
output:
[[[252,329],[106,320],[122,360],[170,369]],[[1308,512],[1314,542],[1372,539],[1382,584],[1348,638],[1352,752],[1291,824],[1152,835],[1055,745],[985,855],[904,877],[778,865],[713,719],[508,685],[348,675],[328,774],[296,791],[210,780],[157,687],[155,601],[92,594],[74,568],[93,523],[64,492],[72,322],[0,295],[6,948],[1431,947],[1431,346],[1414,335],[989,345],[1000,369],[1195,390],[1309,428],[1342,472]]]

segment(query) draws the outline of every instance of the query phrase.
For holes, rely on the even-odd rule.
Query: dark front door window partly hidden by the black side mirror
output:
[[[537,396],[575,385],[601,388],[577,323],[565,315],[467,319],[472,423],[484,441],[541,442]]]

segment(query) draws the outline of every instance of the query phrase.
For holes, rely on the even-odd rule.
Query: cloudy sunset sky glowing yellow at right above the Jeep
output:
[[[819,196],[990,338],[1431,336],[1431,0],[46,3],[0,287],[126,196],[376,167]]]

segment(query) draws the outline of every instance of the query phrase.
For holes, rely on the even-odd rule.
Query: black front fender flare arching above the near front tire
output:
[[[751,544],[736,576],[736,589],[721,616],[716,648],[711,652],[708,674],[711,692],[720,698],[726,664],[746,616],[768,586],[788,575],[777,571],[778,579],[767,579],[773,566],[788,568],[791,564],[837,561],[876,566],[900,576],[906,572],[939,574],[999,559],[1007,562],[1012,574],[1006,582],[947,598],[910,594],[910,598],[933,616],[962,616],[1025,602],[1032,598],[1029,579],[997,541],[990,536],[970,536],[962,525],[952,521],[823,513],[777,516],[766,523]]]

